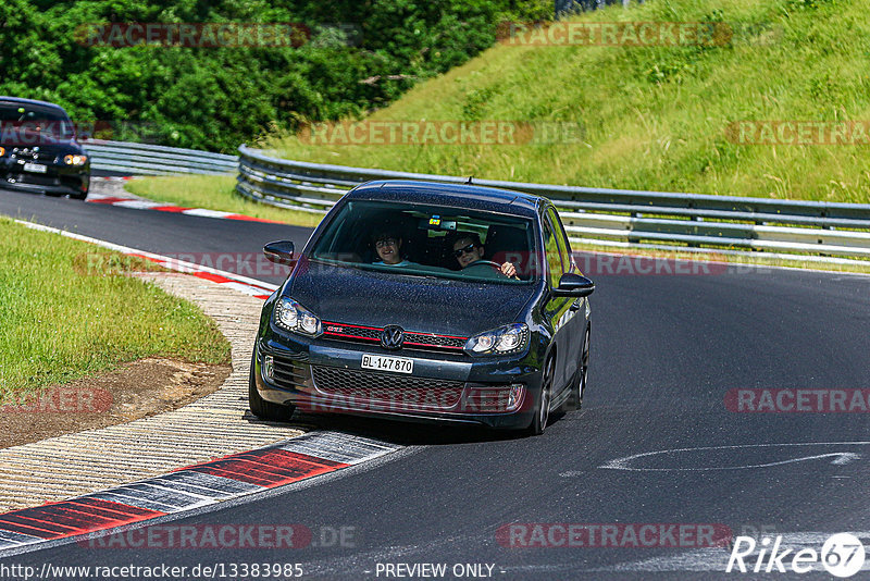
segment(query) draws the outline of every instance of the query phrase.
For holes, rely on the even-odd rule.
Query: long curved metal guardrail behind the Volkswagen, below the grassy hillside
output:
[[[237,191],[273,206],[325,213],[349,188],[372,180],[468,178],[290,161],[239,147]],[[573,243],[870,258],[866,203],[473,182],[551,199]]]

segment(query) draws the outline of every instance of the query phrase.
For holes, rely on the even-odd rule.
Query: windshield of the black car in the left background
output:
[[[0,141],[5,145],[39,145],[73,137],[73,123],[62,109],[0,102]]]

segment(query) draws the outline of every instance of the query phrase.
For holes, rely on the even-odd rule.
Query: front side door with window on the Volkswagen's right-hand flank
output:
[[[558,236],[554,227],[552,220],[548,212],[545,210],[542,215],[542,234],[544,235],[544,255],[545,255],[545,269],[547,275],[547,285],[549,287],[549,299],[544,305],[542,314],[550,324],[554,330],[552,343],[556,348],[556,371],[554,376],[554,398],[564,387],[570,378],[569,372],[569,357],[571,356],[571,336],[566,329],[566,323],[573,314],[571,306],[574,299],[570,297],[554,296],[551,290],[559,285],[564,272],[562,264],[562,255],[559,252]],[[569,267],[570,268],[570,267]],[[571,367],[573,369],[573,367]]]

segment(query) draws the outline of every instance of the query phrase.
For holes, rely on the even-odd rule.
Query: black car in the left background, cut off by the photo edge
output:
[[[0,187],[85,199],[90,160],[60,106],[0,97]]]

